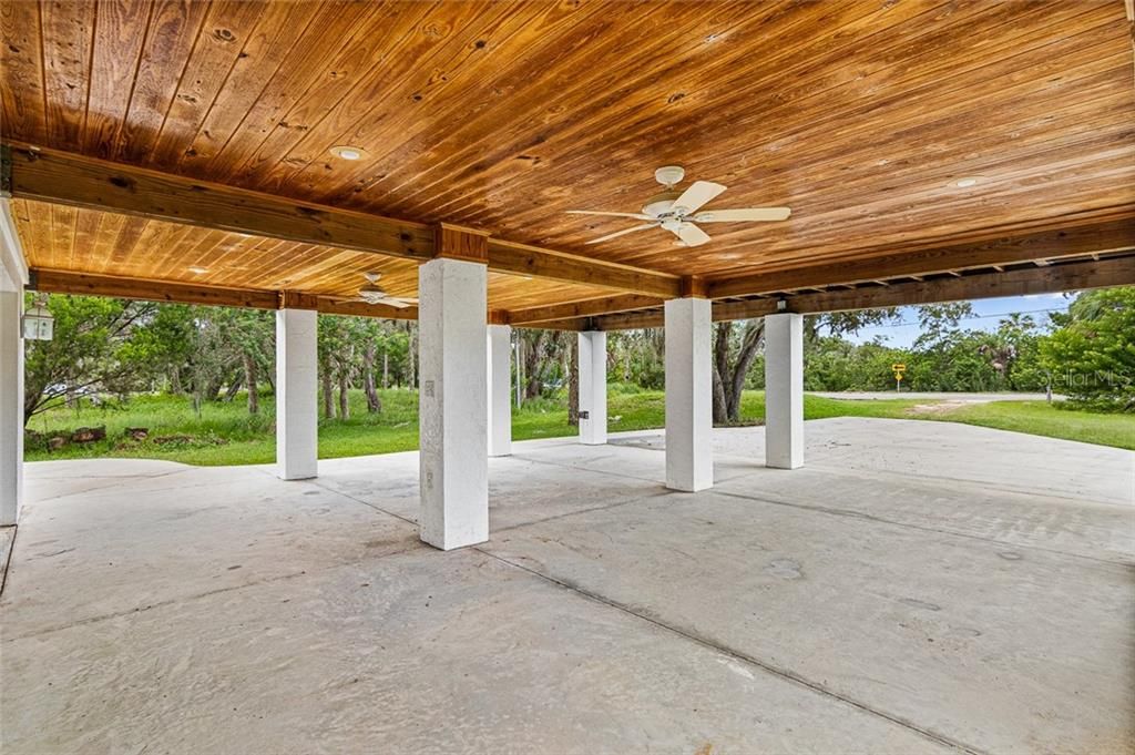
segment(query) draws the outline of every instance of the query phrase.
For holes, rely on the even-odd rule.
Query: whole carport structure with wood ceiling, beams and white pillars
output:
[[[802,313],[1135,283],[1132,12],[6,3],[2,523],[24,286],[277,310],[285,479],[317,475],[317,312],[417,318],[440,548],[489,536],[511,327],[580,332],[600,444],[604,333],[664,325],[666,485],[699,490],[712,322],[767,317],[766,462],[799,467]],[[566,211],[637,212],[664,165],[792,218],[588,244],[616,226]],[[419,307],[344,302],[367,271]]]

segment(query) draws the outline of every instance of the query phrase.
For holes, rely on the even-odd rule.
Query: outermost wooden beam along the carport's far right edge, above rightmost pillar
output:
[[[1049,267],[1033,267],[1006,272],[982,272],[959,278],[899,283],[883,288],[871,287],[854,291],[829,291],[822,294],[801,294],[785,297],[787,310],[784,311],[816,314],[1129,285],[1135,285],[1135,255],[1053,263]],[[714,302],[713,319],[720,322],[764,317],[779,311],[776,303],[775,299]],[[625,312],[592,319],[592,327],[598,327],[602,330],[658,328],[663,325],[662,313],[657,311]]]

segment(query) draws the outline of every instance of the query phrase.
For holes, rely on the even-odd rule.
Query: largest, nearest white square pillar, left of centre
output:
[[[488,268],[418,268],[421,538],[448,551],[489,537]]]

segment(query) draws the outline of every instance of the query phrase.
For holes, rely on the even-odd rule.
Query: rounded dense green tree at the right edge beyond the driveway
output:
[[[1081,293],[1040,344],[1054,385],[1076,403],[1135,411],[1135,287]]]

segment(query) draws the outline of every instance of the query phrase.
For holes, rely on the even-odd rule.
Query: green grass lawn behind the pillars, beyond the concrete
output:
[[[380,392],[382,411],[367,413],[361,392],[351,396],[350,420],[322,420],[319,426],[321,459],[411,451],[418,447],[418,395],[410,391]],[[920,409],[916,409],[920,408]],[[927,409],[928,408],[928,409]],[[661,391],[612,385],[607,404],[611,431],[640,430],[663,426],[665,400]],[[806,419],[827,417],[884,417],[953,421],[994,427],[1135,450],[1135,417],[1063,410],[1039,401],[999,401],[964,406],[918,400],[850,401],[805,396]],[[764,394],[746,392],[741,403],[746,422],[764,418]],[[121,405],[57,409],[36,416],[28,429],[47,435],[69,433],[78,427],[106,426],[107,439],[73,444],[47,451],[30,444],[28,461],[100,456],[169,459],[188,464],[225,465],[269,463],[275,460],[272,434],[275,406],[271,396],[261,401],[260,413],[251,416],[243,395],[233,403],[210,403],[200,417],[187,399],[135,396]],[[144,427],[150,438],[135,442],[125,437],[128,427]],[[513,438],[570,436],[562,400],[529,401],[513,410]]]

